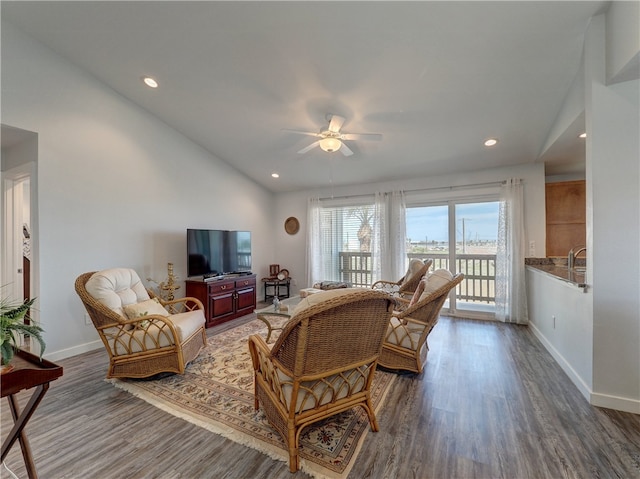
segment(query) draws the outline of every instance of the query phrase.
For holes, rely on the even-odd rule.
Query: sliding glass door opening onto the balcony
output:
[[[432,269],[464,273],[445,304],[451,314],[492,317],[495,312],[496,199],[407,207],[409,258],[433,258]]]

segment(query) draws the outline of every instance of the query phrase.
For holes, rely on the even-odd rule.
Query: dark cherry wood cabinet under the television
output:
[[[212,281],[187,280],[186,295],[202,301],[207,328],[250,314],[256,308],[256,275]]]

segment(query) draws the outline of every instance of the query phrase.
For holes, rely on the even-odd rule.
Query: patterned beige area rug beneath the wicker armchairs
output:
[[[266,333],[265,324],[254,319],[210,337],[184,375],[108,381],[166,412],[288,463],[280,435],[262,411],[254,409],[247,339]],[[376,371],[372,390],[376,413],[394,379],[391,373]],[[361,407],[308,426],[300,439],[301,469],[317,478],[346,478],[370,430]]]

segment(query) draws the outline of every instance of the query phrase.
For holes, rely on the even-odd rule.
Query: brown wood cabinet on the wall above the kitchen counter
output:
[[[586,183],[547,183],[547,256],[566,257],[571,248],[586,245]]]

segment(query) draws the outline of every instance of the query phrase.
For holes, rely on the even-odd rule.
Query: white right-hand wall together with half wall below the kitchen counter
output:
[[[591,404],[640,413],[640,80],[636,71],[634,80],[606,84],[605,38],[616,36],[606,30],[622,18],[610,13],[592,19],[584,47],[589,287],[576,295],[529,272],[530,317]],[[639,45],[627,39],[630,48],[618,48],[630,60]]]

